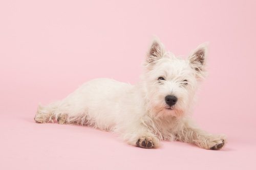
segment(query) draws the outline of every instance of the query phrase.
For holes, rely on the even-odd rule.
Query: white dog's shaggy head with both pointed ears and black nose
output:
[[[198,82],[204,77],[207,44],[199,45],[186,59],[165,52],[154,40],[145,61],[143,82],[148,106],[156,116],[182,116],[189,112]]]

